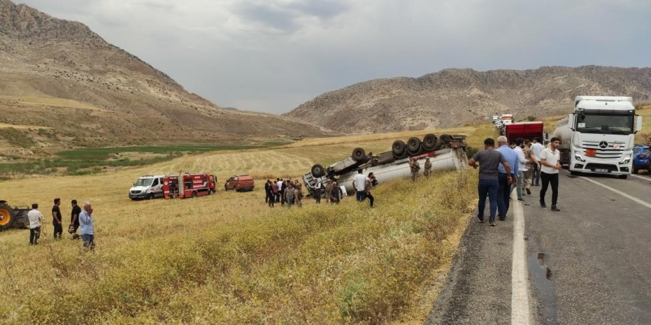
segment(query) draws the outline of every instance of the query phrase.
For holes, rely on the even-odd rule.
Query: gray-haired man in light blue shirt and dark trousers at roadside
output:
[[[499,220],[506,220],[506,213],[508,213],[508,207],[510,205],[510,196],[511,196],[511,184],[514,179],[518,179],[518,154],[511,148],[508,148],[508,139],[506,136],[499,136],[497,138],[497,151],[501,152],[508,162],[508,166],[511,167],[511,174],[506,174],[506,168],[504,164],[499,164],[497,168],[497,181],[499,181],[499,190],[497,191],[497,216]]]

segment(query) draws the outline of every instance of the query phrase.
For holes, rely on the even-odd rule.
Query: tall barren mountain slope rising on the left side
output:
[[[0,0],[0,62],[0,148],[14,146],[16,134],[45,150],[334,134],[293,118],[222,109],[86,25],[8,0]]]

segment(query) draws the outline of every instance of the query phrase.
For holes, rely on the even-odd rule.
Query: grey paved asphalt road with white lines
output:
[[[511,209],[497,227],[473,219],[426,324],[651,324],[651,178],[562,172],[560,183],[560,213],[533,187],[522,215]],[[523,310],[528,320],[514,316]]]

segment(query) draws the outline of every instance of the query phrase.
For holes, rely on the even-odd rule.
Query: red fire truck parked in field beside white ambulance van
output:
[[[210,195],[215,192],[215,175],[180,174],[163,177],[163,194],[169,198],[196,198],[197,196]]]

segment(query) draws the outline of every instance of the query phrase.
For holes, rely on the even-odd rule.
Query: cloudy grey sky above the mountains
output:
[[[81,21],[221,107],[445,68],[650,66],[648,0],[18,0]]]

